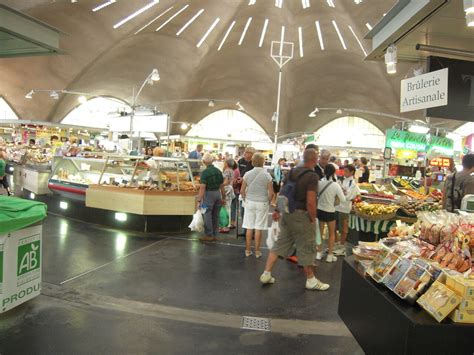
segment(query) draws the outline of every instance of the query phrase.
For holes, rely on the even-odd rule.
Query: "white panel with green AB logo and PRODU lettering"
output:
[[[0,313],[41,292],[42,227],[0,235]]]

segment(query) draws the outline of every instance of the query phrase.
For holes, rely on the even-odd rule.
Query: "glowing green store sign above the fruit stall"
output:
[[[454,154],[454,142],[452,139],[400,131],[398,129],[387,130],[385,147],[416,150],[418,152],[435,150],[447,156]]]

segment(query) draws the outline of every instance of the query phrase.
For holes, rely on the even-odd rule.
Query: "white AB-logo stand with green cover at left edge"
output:
[[[0,196],[0,313],[41,292],[44,203]]]

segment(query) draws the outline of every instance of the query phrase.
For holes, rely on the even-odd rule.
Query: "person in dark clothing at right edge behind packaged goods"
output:
[[[443,208],[454,212],[461,208],[464,196],[474,194],[474,154],[462,158],[462,171],[446,178],[443,190]]]

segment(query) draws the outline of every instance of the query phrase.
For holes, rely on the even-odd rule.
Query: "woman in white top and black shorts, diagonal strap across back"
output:
[[[324,224],[327,224],[329,229],[329,252],[326,258],[328,263],[337,260],[333,254],[336,240],[336,197],[339,203],[346,201],[341,186],[332,180],[335,172],[336,168],[333,164],[326,165],[324,178],[318,183],[318,221],[321,235],[323,235]]]

